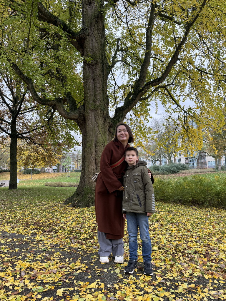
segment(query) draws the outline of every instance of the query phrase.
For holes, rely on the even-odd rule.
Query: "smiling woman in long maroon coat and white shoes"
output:
[[[98,224],[98,241],[100,262],[109,262],[112,253],[115,262],[123,263],[124,225],[122,216],[123,176],[127,163],[124,160],[125,149],[134,142],[130,127],[118,123],[115,138],[102,152],[100,173],[96,182],[95,207]]]

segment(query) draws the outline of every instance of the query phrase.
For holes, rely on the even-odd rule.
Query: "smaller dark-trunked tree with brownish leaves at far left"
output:
[[[61,141],[71,147],[74,143],[70,130],[73,124],[54,116],[55,110],[40,107],[30,95],[24,82],[4,65],[0,66],[0,135],[10,139],[9,189],[17,188],[17,141],[26,141],[28,155],[36,151],[36,158],[48,151],[48,145],[59,147]],[[36,145],[36,147],[34,147]],[[63,144],[62,144],[63,145]],[[62,146],[63,147],[63,146]],[[63,147],[64,148],[64,147]],[[30,151],[32,150],[32,151]],[[24,163],[26,165],[26,163]],[[37,162],[38,164],[38,162]]]

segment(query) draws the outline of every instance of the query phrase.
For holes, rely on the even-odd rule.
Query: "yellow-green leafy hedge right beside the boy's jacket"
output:
[[[226,177],[192,175],[177,179],[155,178],[155,200],[226,209]]]

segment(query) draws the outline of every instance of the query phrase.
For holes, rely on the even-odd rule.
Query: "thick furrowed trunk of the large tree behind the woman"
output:
[[[78,120],[83,137],[82,170],[76,192],[65,201],[77,207],[94,204],[95,184],[90,178],[99,171],[102,151],[112,138],[109,134],[112,124],[108,114],[104,16],[98,3],[91,0],[83,4],[83,25],[89,28],[89,34],[84,41],[83,54],[84,119]]]

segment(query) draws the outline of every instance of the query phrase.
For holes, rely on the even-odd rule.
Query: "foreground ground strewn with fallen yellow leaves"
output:
[[[133,275],[101,264],[94,208],[62,201],[75,188],[0,190],[0,300],[225,300],[226,211],[157,203],[150,219],[153,276],[141,244]]]

